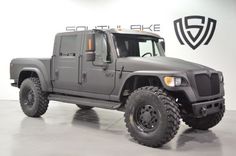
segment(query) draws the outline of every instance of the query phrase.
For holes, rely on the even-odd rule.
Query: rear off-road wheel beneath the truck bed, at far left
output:
[[[27,116],[40,117],[47,111],[48,96],[42,91],[38,78],[25,79],[20,86],[19,94],[21,108]]]

